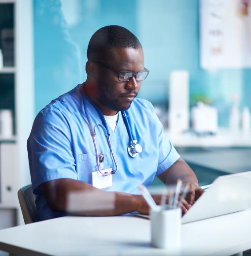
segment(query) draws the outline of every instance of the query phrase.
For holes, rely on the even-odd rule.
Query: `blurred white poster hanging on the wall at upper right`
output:
[[[200,65],[251,67],[251,1],[200,0]]]

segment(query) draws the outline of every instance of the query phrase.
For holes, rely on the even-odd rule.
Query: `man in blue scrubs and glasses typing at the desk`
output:
[[[149,72],[140,41],[121,26],[105,26],[93,34],[87,56],[86,82],[38,113],[27,142],[37,220],[65,215],[74,192],[96,195],[93,209],[85,211],[88,202],[79,202],[80,215],[147,214],[138,186],[149,186],[155,175],[167,184],[179,177],[194,184],[182,202],[185,213],[203,191],[166,138],[151,103],[135,98]],[[111,195],[114,207],[94,207]],[[160,203],[160,195],[153,198]]]

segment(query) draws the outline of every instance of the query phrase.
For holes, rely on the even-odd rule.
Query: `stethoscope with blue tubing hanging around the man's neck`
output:
[[[96,109],[97,113],[99,114],[101,120],[102,120],[102,123],[103,124],[96,124],[93,128],[92,126],[92,121],[89,117],[89,113],[87,111],[87,106],[86,106],[86,99],[92,104],[92,106]],[[109,131],[109,128],[108,128],[108,125],[107,125],[107,122],[102,114],[102,112],[100,111],[100,109],[94,104],[94,102],[92,102],[89,98],[87,98],[86,96],[83,97],[83,102],[84,102],[84,110],[85,110],[85,115],[86,115],[86,118],[87,118],[87,121],[88,121],[88,126],[89,126],[89,130],[91,132],[91,136],[92,136],[92,140],[93,140],[93,144],[94,144],[94,147],[95,147],[95,153],[96,153],[96,162],[97,162],[97,166],[98,166],[98,170],[99,172],[104,175],[104,176],[107,176],[107,175],[110,175],[110,174],[114,174],[114,173],[117,173],[118,171],[118,165],[117,165],[117,162],[116,162],[116,159],[114,157],[114,154],[113,154],[113,150],[112,150],[112,147],[111,147],[111,139],[110,139],[110,131]],[[123,117],[123,120],[124,120],[124,123],[125,123],[125,127],[126,127],[126,130],[127,130],[127,133],[128,133],[128,136],[129,136],[129,146],[128,146],[128,154],[129,156],[131,156],[132,158],[136,158],[141,152],[142,152],[142,147],[140,146],[140,144],[137,142],[137,139],[135,139],[133,137],[133,133],[129,127],[129,122],[128,122],[128,118],[127,118],[127,115],[125,113],[125,111],[121,111],[122,113],[122,117]],[[105,133],[105,136],[107,137],[107,141],[108,141],[108,144],[109,144],[109,148],[110,148],[110,151],[111,151],[111,155],[112,155],[112,158],[113,158],[113,161],[114,161],[114,165],[115,165],[115,169],[114,170],[111,170],[110,172],[106,172],[106,171],[103,171],[101,168],[100,168],[100,163],[103,162],[103,153],[98,153],[98,149],[97,149],[97,143],[96,143],[96,139],[95,139],[95,136],[96,136],[96,127],[97,126],[100,126],[103,128],[103,131]],[[99,156],[100,156],[100,161],[99,161]]]

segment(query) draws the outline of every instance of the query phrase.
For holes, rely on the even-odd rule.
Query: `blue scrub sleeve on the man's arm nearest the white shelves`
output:
[[[59,109],[50,106],[37,115],[27,143],[35,194],[40,194],[38,186],[45,181],[78,178],[70,137],[70,125]]]

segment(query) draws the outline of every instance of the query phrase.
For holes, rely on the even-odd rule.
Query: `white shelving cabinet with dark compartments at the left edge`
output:
[[[23,223],[17,192],[30,184],[26,140],[34,117],[33,0],[0,0],[0,49],[4,57],[4,67],[0,69],[0,109],[11,109],[14,120],[13,136],[0,136],[3,228]]]

